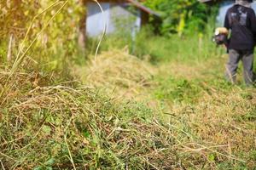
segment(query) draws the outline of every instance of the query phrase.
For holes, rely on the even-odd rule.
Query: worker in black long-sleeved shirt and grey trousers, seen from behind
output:
[[[228,81],[236,83],[236,71],[241,60],[243,77],[247,86],[253,85],[253,49],[256,40],[256,16],[251,8],[253,0],[236,0],[224,20],[224,27],[231,30],[229,41],[230,58],[225,76]]]

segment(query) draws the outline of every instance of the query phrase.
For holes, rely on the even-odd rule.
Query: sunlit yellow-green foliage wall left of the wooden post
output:
[[[38,63],[44,60],[46,65],[55,69],[56,64],[61,64],[77,49],[74,46],[77,45],[80,20],[85,16],[83,3],[82,0],[0,0],[1,48],[8,48],[7,42],[13,35],[13,55],[18,54],[28,31],[22,51],[26,51],[38,37],[27,56],[32,56]],[[61,8],[64,4],[65,7]],[[1,60],[5,54],[0,54]]]

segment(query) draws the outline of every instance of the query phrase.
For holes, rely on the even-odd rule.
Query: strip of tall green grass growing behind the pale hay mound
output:
[[[97,39],[90,38],[87,42],[87,54],[93,54]],[[212,42],[212,30],[204,33],[193,32],[190,35],[178,37],[155,36],[149,27],[137,33],[132,38],[127,33],[118,32],[105,37],[101,51],[113,48],[128,48],[131,54],[143,59],[147,58],[156,64],[160,61],[178,60],[181,62],[200,62],[201,59],[218,58],[224,50],[217,48]],[[212,54],[216,56],[212,56]]]

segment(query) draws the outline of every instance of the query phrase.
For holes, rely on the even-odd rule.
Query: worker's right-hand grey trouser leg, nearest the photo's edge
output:
[[[241,58],[243,65],[243,77],[247,86],[253,84],[253,51],[246,51]]]

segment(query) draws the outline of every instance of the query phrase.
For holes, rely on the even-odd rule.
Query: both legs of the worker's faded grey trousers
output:
[[[236,71],[239,61],[243,65],[243,78],[247,85],[253,84],[253,50],[230,49],[230,59],[226,66],[226,78],[236,83]]]

